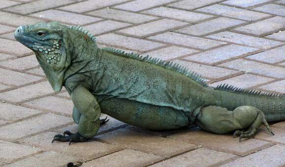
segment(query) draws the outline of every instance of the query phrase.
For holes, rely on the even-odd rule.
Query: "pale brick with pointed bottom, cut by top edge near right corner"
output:
[[[227,0],[225,2],[222,2],[222,4],[228,4],[232,6],[248,8],[248,7],[260,5],[262,3],[266,3],[269,1],[271,0]]]

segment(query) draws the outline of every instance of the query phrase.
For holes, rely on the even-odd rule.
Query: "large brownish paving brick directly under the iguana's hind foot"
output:
[[[167,138],[191,144],[200,144],[203,147],[228,152],[239,156],[248,155],[270,145],[269,142],[260,141],[256,139],[244,140],[242,142],[239,142],[238,138],[232,137],[232,134],[220,135],[202,130],[186,130],[184,132],[179,132],[170,135]]]

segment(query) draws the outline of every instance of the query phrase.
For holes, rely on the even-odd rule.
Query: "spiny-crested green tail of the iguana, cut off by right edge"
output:
[[[229,85],[215,88],[217,106],[234,110],[239,106],[254,106],[261,110],[268,122],[285,120],[285,95],[246,90]]]

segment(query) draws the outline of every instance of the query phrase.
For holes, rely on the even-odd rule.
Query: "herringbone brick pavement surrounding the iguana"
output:
[[[285,0],[0,0],[0,167],[285,166],[285,121],[242,143],[197,128],[149,131],[116,119],[87,143],[72,103],[49,86],[33,53],[15,42],[21,24],[81,24],[99,46],[180,63],[222,83],[285,93]],[[90,150],[90,151],[86,151]]]

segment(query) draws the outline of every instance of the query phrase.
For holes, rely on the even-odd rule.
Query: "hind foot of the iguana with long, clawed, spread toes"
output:
[[[264,114],[262,112],[259,112],[257,114],[256,120],[251,124],[251,126],[248,128],[248,130],[246,130],[246,131],[236,130],[233,133],[233,137],[235,138],[235,137],[239,136],[239,142],[241,142],[241,139],[244,139],[244,138],[252,138],[256,134],[257,129],[260,127],[261,124],[264,124],[266,129],[272,135],[274,135],[273,131],[271,130],[271,128],[269,127],[269,125],[265,119]]]

